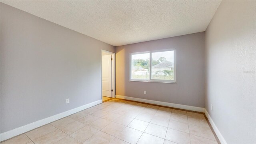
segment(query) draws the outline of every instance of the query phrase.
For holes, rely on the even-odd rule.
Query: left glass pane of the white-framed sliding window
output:
[[[132,54],[132,79],[149,80],[149,53]]]

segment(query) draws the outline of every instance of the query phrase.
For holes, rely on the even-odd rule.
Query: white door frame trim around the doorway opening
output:
[[[107,50],[101,49],[101,100],[102,99],[102,52],[109,53],[112,55],[112,98],[116,98],[116,54]]]

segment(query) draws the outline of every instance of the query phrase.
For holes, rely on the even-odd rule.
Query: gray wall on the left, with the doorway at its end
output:
[[[1,133],[100,100],[101,49],[114,52],[1,3]]]

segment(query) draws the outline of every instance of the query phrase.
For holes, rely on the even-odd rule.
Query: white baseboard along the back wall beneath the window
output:
[[[125,99],[125,100],[134,100],[137,102],[145,102],[145,103],[149,103],[149,104],[157,104],[160,106],[169,106],[169,107],[180,108],[180,109],[184,109],[184,110],[193,110],[196,112],[204,112],[204,109],[205,109],[205,108],[200,108],[200,107],[196,107],[196,106],[173,104],[173,103],[169,103],[169,102],[160,102],[160,101],[156,101],[156,100],[146,100],[146,99],[142,99],[142,98],[133,98],[133,97],[128,97],[128,96],[120,96],[120,95],[116,95],[116,98],[121,98],[121,99]]]

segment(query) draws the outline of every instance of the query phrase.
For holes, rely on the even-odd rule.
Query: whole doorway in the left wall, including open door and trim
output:
[[[115,97],[115,54],[101,50],[102,101]]]

